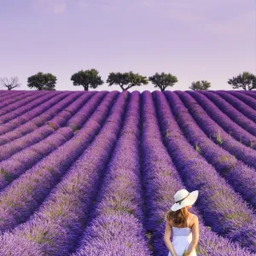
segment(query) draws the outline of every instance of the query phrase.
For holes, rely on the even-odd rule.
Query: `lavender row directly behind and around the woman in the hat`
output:
[[[168,124],[168,106],[158,109],[160,121]],[[168,119],[168,120],[167,120]],[[154,255],[166,256],[168,251],[164,244],[166,222],[164,216],[173,204],[177,190],[184,185],[172,163],[160,134],[154,102],[148,91],[143,92],[143,181],[146,186],[146,212],[148,212],[148,230],[154,241]],[[201,196],[201,191],[199,192]],[[199,218],[200,240],[196,247],[197,255],[251,255],[247,249],[231,243],[228,239],[218,236],[207,227],[196,210],[197,202],[192,212]],[[210,228],[211,229],[211,228]],[[173,237],[173,234],[172,234]]]

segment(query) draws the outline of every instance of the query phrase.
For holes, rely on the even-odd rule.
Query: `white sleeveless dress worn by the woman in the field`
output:
[[[194,214],[192,214],[191,218],[193,218]],[[191,220],[189,219],[189,222]],[[188,224],[189,226],[189,224]],[[189,227],[186,228],[177,228],[172,227],[173,232],[173,239],[172,239],[172,245],[174,247],[175,253],[177,253],[177,256],[182,256],[184,253],[184,250],[186,249],[188,251],[189,244],[192,241],[192,230]],[[195,249],[191,253],[191,256],[196,256]],[[172,253],[169,252],[168,256],[172,256]]]

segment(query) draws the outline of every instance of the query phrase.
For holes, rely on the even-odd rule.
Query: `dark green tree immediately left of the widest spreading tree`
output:
[[[98,85],[104,83],[102,78],[98,75],[98,71],[92,68],[90,70],[81,70],[78,73],[74,73],[71,77],[73,85],[83,85],[84,90],[89,90],[90,88],[96,89]]]

